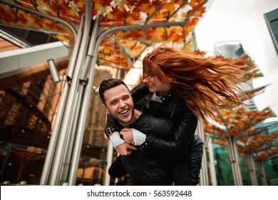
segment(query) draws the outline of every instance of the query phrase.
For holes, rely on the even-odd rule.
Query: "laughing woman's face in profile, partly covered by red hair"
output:
[[[170,86],[158,79],[158,76],[148,74],[144,77],[143,83],[150,90],[150,92],[156,92],[158,96],[165,96],[170,91]]]

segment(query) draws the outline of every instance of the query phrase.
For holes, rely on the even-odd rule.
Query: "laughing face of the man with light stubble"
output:
[[[115,86],[104,92],[105,111],[123,126],[131,124],[134,115],[133,99],[124,85]]]

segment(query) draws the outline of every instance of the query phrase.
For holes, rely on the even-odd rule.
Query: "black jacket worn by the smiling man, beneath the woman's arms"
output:
[[[119,129],[123,128],[118,121],[115,121],[115,125]],[[143,111],[130,128],[162,139],[170,139],[175,130],[172,120],[154,117],[148,111]],[[170,186],[173,183],[173,166],[158,151],[133,151],[129,156],[121,156],[121,162],[130,175],[130,184],[133,186]]]

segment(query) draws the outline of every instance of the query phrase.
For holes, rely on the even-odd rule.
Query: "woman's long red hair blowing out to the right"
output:
[[[243,79],[242,66],[231,60],[215,61],[186,54],[168,46],[158,46],[143,59],[143,74],[153,74],[170,84],[189,109],[205,119],[220,113],[222,106],[244,104],[238,92]]]

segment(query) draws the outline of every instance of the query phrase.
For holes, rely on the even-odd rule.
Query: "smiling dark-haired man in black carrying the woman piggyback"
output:
[[[173,122],[169,119],[153,117],[146,111],[134,109],[128,86],[122,80],[103,81],[100,96],[105,111],[118,121],[118,126],[133,127],[133,130],[138,129],[144,134],[159,134],[165,139],[173,133]],[[117,151],[125,149],[122,162],[132,185],[172,185],[170,164],[159,153],[145,154],[128,143],[119,144],[115,148]]]

